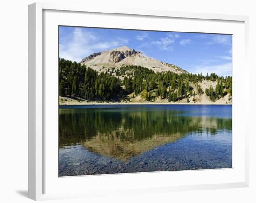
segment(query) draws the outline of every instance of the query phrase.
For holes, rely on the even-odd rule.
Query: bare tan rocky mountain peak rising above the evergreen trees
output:
[[[106,71],[108,68],[120,68],[126,65],[142,66],[154,72],[171,71],[174,73],[187,73],[186,70],[170,63],[164,63],[155,58],[148,57],[140,51],[135,51],[127,46],[121,46],[108,51],[97,52],[89,55],[80,62],[82,65],[99,72]],[[103,67],[107,69],[102,69]]]

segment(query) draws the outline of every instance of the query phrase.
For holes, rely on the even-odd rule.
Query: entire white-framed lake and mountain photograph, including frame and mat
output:
[[[29,5],[29,198],[249,186],[249,18]]]

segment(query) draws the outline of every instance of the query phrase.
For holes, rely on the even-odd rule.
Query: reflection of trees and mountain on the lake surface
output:
[[[192,105],[189,105],[191,108],[188,105],[184,105],[186,108],[177,108],[183,105],[159,106],[62,108],[59,111],[59,146],[81,145],[101,156],[127,161],[192,133],[215,136],[217,132],[232,130],[229,113],[216,114],[207,106],[205,109]]]

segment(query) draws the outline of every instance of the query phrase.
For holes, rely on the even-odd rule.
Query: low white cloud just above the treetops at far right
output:
[[[193,73],[202,73],[204,76],[207,73],[216,73],[218,76],[231,76],[232,63],[224,63],[218,65],[198,65],[193,67]]]

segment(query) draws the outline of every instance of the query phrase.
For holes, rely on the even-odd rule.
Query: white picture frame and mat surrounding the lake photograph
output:
[[[68,13],[68,19],[65,15]],[[207,170],[195,170],[195,171],[178,171],[178,172],[154,172],[154,173],[137,173],[137,174],[113,174],[103,176],[88,176],[87,181],[89,183],[102,183],[103,186],[108,186],[108,190],[104,191],[97,188],[97,185],[92,184],[90,191],[76,187],[68,188],[68,192],[62,189],[57,190],[63,184],[73,185],[75,183],[82,183],[85,177],[56,177],[57,166],[56,156],[58,152],[56,149],[55,141],[49,142],[50,139],[46,139],[47,132],[56,130],[56,104],[58,100],[55,97],[49,100],[50,95],[56,94],[57,84],[54,79],[55,72],[50,76],[49,71],[45,71],[46,67],[51,64],[56,64],[52,61],[48,55],[57,54],[55,44],[56,38],[56,25],[71,25],[72,20],[78,18],[79,15],[94,15],[104,16],[110,15],[111,18],[155,18],[158,21],[161,20],[179,20],[184,21],[184,25],[189,25],[188,22],[211,24],[211,26],[205,26],[200,28],[201,32],[219,33],[217,30],[223,30],[222,33],[233,34],[235,37],[235,44],[233,47],[233,84],[234,84],[234,100],[233,100],[233,131],[242,134],[241,137],[236,136],[235,144],[233,144],[233,153],[235,154],[235,166],[229,171],[214,170],[208,172]],[[58,18],[60,16],[61,18]],[[72,17],[73,16],[73,17]],[[79,16],[81,18],[81,16]],[[86,17],[86,16],[85,16]],[[49,23],[51,19],[51,23]],[[58,19],[62,19],[61,24]],[[132,20],[131,20],[132,21]],[[66,22],[66,23],[65,23]],[[74,26],[83,26],[81,22],[76,21]],[[117,20],[118,22],[118,20]],[[145,21],[146,22],[146,21]],[[90,22],[92,25],[94,21]],[[96,20],[95,20],[96,23]],[[219,24],[218,24],[219,23]],[[222,26],[221,24],[224,23]],[[177,24],[177,23],[176,23]],[[230,26],[228,25],[230,24]],[[179,25],[179,26],[184,26]],[[220,25],[218,27],[218,25]],[[225,26],[224,26],[225,25]],[[109,24],[111,26],[111,24]],[[109,27],[107,26],[107,27]],[[119,26],[119,25],[112,25]],[[111,26],[111,27],[112,27]],[[132,26],[132,25],[125,25]],[[135,28],[139,28],[134,24]],[[147,26],[146,23],[144,26]],[[156,26],[156,25],[148,25]],[[160,26],[160,25],[159,25]],[[50,28],[54,28],[51,31]],[[211,27],[211,28],[210,28]],[[127,28],[127,27],[126,27]],[[161,29],[155,28],[155,29]],[[174,31],[177,31],[178,25]],[[198,27],[187,27],[187,32],[200,32]],[[204,29],[204,30],[203,30]],[[181,30],[179,30],[181,31]],[[48,40],[49,36],[53,36],[53,41]],[[239,40],[238,40],[239,39]],[[55,40],[55,41],[54,41]],[[236,43],[237,42],[237,43]],[[239,50],[241,47],[241,50]],[[52,52],[51,52],[52,51]],[[236,16],[236,15],[222,15],[222,14],[210,14],[210,13],[187,13],[187,12],[174,12],[174,11],[157,11],[157,10],[143,10],[143,9],[128,9],[128,8],[116,8],[111,10],[101,8],[99,6],[88,7],[85,5],[59,5],[51,3],[34,3],[28,6],[28,197],[34,200],[47,200],[56,198],[75,198],[75,197],[95,197],[102,195],[111,195],[116,193],[145,193],[145,192],[169,192],[169,191],[186,191],[186,190],[205,190],[205,189],[222,189],[222,188],[235,188],[235,187],[248,187],[249,186],[249,131],[246,119],[243,116],[249,114],[249,97],[238,98],[236,97],[236,90],[243,91],[244,94],[249,92],[249,79],[245,79],[245,75],[241,70],[238,70],[238,65],[243,64],[243,71],[249,70],[248,56],[249,56],[249,17]],[[47,58],[47,59],[46,59]],[[56,58],[57,59],[57,58]],[[57,70],[57,66],[55,67]],[[54,68],[53,68],[54,71]],[[249,72],[249,71],[248,71]],[[236,77],[241,76],[241,77]],[[237,84],[241,84],[239,87]],[[56,86],[56,87],[55,87]],[[54,87],[50,90],[49,87]],[[49,94],[49,95],[48,95]],[[249,95],[249,94],[247,94]],[[56,95],[57,97],[58,95]],[[243,104],[244,108],[239,109],[239,105]],[[54,116],[49,118],[48,112],[54,112]],[[248,116],[249,117],[249,116]],[[50,119],[54,122],[49,121]],[[48,125],[52,122],[53,127]],[[239,126],[236,125],[239,123]],[[54,127],[55,126],[55,127]],[[56,135],[56,134],[54,134]],[[240,154],[236,156],[236,152],[240,149]],[[54,154],[49,157],[49,153]],[[50,167],[49,167],[50,166]],[[236,170],[237,169],[237,170]],[[54,171],[54,172],[52,172]],[[235,172],[234,172],[235,171]],[[163,180],[168,178],[179,176],[182,173],[183,177],[211,177],[212,180],[202,178],[201,182],[181,181],[180,184],[176,181],[174,184],[168,184]],[[230,176],[229,176],[230,175]],[[215,177],[216,176],[216,177]],[[217,178],[219,176],[223,181]],[[236,176],[236,178],[235,178]],[[53,178],[55,177],[55,178]],[[150,183],[145,180],[152,178]],[[226,178],[226,179],[225,179]],[[55,179],[51,182],[52,179]],[[185,178],[184,178],[185,179]],[[200,179],[200,178],[199,178]],[[118,183],[118,181],[127,181],[127,188],[117,188],[114,184],[105,185],[107,181]],[[131,181],[128,183],[128,181]],[[138,187],[133,187],[132,181],[141,180],[145,181],[145,184],[138,184]],[[54,182],[55,181],[55,182]],[[88,183],[87,182],[87,183]],[[175,182],[175,181],[174,181]],[[79,185],[78,184],[78,185]],[[50,186],[51,185],[51,186]],[[98,190],[96,190],[96,188]],[[49,192],[48,192],[49,191]]]

